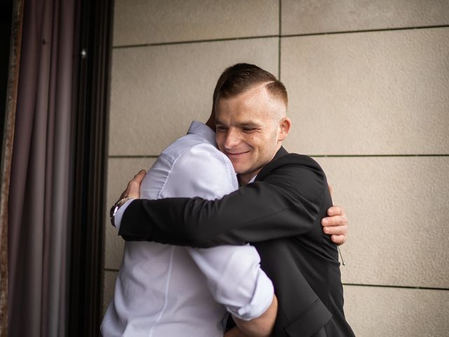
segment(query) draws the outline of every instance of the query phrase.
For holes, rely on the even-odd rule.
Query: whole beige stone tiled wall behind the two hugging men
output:
[[[288,88],[287,149],[348,213],[356,335],[447,336],[448,0],[115,0],[112,53],[108,204],[206,121],[225,67],[255,63]],[[123,242],[105,227],[106,305]]]

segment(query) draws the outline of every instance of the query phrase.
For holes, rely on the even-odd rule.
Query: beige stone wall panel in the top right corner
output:
[[[448,0],[282,0],[286,34],[449,24]]]

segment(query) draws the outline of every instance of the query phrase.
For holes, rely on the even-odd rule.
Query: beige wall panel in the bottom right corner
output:
[[[445,337],[449,291],[344,286],[344,312],[357,337]]]

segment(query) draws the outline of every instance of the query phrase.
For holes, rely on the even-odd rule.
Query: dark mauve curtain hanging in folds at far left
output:
[[[76,0],[24,1],[8,201],[8,335],[67,335]]]

